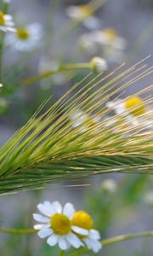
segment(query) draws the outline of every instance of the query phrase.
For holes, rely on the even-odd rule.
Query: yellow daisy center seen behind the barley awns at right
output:
[[[136,116],[145,113],[144,102],[138,96],[129,97],[125,102],[125,108],[129,111],[129,113]],[[131,108],[133,109],[131,110]]]

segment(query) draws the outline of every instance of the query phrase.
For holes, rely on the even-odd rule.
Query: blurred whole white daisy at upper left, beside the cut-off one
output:
[[[16,32],[8,35],[7,44],[20,51],[31,51],[39,46],[42,39],[42,26],[33,23],[26,27],[18,27]]]

